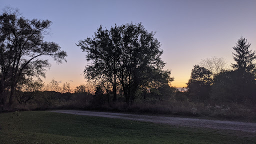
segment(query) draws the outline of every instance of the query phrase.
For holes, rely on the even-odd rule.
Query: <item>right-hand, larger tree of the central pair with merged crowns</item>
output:
[[[141,23],[127,23],[120,29],[120,56],[117,77],[122,85],[126,102],[132,103],[136,91],[148,83],[168,83],[173,80],[170,70],[163,70],[165,63],[161,60],[160,42],[154,38],[155,32],[148,32]]]

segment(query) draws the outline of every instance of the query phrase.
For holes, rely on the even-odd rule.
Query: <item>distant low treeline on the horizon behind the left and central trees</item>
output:
[[[48,108],[86,108],[97,109],[103,106],[113,106],[116,103],[123,104],[127,107],[125,96],[121,88],[116,89],[117,99],[114,98],[112,90],[106,92],[106,89],[100,85],[84,84],[70,88],[69,83],[59,85],[58,81],[52,79],[44,85],[42,81],[36,81],[29,85],[23,85],[20,90],[15,90],[15,104],[23,106],[32,106],[31,109],[48,109]],[[176,92],[176,87],[161,85],[151,88],[150,91],[136,91],[135,102],[144,102],[155,104],[159,101],[167,100]],[[178,99],[178,98],[177,98]],[[29,109],[29,108],[28,108]]]

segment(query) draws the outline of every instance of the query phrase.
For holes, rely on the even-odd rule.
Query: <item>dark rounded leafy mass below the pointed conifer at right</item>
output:
[[[241,76],[238,70],[225,70],[215,75],[211,98],[216,101],[256,103],[256,84]]]

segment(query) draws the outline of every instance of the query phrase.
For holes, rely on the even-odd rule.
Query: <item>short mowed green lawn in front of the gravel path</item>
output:
[[[177,127],[49,111],[0,113],[0,143],[255,142],[255,136],[245,132]]]

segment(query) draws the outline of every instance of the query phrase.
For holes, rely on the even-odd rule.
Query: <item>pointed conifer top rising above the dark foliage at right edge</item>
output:
[[[256,63],[253,60],[256,59],[255,50],[249,50],[251,43],[247,43],[247,39],[240,37],[236,42],[236,46],[233,47],[236,53],[232,52],[234,61],[236,63],[231,63],[231,66],[238,71],[244,73],[256,72]]]

